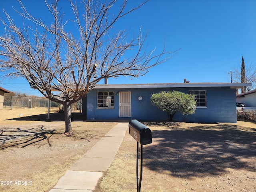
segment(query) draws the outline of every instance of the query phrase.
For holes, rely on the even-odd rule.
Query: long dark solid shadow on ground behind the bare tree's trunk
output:
[[[16,121],[65,121],[64,113],[56,112],[50,113],[50,119],[47,119],[47,114],[40,114],[40,115],[32,115],[27,117],[19,117],[19,118],[12,118],[7,120],[16,120]],[[85,121],[86,116],[81,113],[71,113],[72,121]]]

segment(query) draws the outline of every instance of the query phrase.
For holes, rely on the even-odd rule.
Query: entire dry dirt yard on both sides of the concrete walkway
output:
[[[0,191],[47,192],[114,122],[72,113],[74,136],[62,136],[64,114],[51,109],[0,110]],[[256,124],[144,122],[141,192],[256,192]],[[126,136],[95,192],[136,192],[136,141]]]

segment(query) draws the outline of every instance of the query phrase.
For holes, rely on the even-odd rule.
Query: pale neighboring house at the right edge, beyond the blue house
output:
[[[256,89],[236,95],[236,102],[246,107],[256,107]]]

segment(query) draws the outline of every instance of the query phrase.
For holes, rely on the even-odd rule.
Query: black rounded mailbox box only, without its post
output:
[[[152,143],[151,130],[136,119],[129,122],[129,134],[142,145]]]

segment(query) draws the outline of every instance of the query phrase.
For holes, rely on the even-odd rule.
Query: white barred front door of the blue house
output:
[[[131,92],[119,92],[119,117],[131,117]]]

